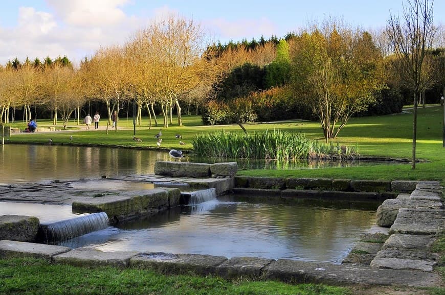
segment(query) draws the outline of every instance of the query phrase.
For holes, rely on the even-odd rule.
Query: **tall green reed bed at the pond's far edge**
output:
[[[196,155],[201,157],[273,159],[354,159],[359,155],[351,146],[309,140],[303,133],[265,130],[253,133],[217,131],[197,134],[193,139]]]

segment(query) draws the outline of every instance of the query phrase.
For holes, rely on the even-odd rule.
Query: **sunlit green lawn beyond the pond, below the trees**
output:
[[[279,169],[279,170],[242,170],[238,175],[269,176],[269,177],[323,177],[344,179],[388,179],[388,180],[438,180],[445,181],[445,148],[442,147],[442,115],[443,107],[438,105],[418,109],[417,120],[417,159],[421,163],[416,169],[410,164],[379,165],[348,168],[323,169]],[[372,116],[352,118],[339,136],[333,142],[358,147],[361,156],[389,157],[396,159],[411,159],[412,154],[412,120],[411,113],[386,116]],[[158,118],[162,124],[162,118]],[[105,126],[106,121],[101,121]],[[50,120],[38,120],[39,127],[50,126]],[[23,122],[11,124],[13,127],[24,129]],[[84,126],[77,126],[70,122],[70,128],[77,129],[63,133],[22,133],[12,135],[8,142],[47,143],[52,138],[54,144],[94,144],[124,147],[142,147],[157,149],[157,139],[154,137],[162,126],[148,128],[148,120],[144,118],[142,126],[136,127],[136,136],[142,142],[132,140],[133,126],[131,118],[120,118],[118,132],[109,130],[84,130]],[[285,121],[268,124],[245,124],[248,132],[281,129],[289,132],[302,132],[308,138],[323,140],[323,133],[319,122],[315,121]],[[57,126],[62,129],[62,126]],[[162,145],[164,149],[193,150],[191,140],[196,134],[226,130],[242,132],[237,125],[203,126],[200,116],[183,116],[183,126],[177,126],[176,118],[168,128],[162,129]],[[186,145],[180,145],[175,134],[183,136]],[[70,136],[73,140],[70,141]]]

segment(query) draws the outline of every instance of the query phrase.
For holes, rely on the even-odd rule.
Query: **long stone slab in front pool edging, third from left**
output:
[[[214,274],[216,267],[227,260],[223,256],[201,254],[141,253],[130,259],[131,267],[154,269],[166,274]]]

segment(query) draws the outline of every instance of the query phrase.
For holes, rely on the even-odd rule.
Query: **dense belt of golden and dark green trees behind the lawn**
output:
[[[397,113],[439,103],[445,89],[443,27],[434,27],[417,89],[403,78],[387,29],[365,31],[326,19],[283,37],[211,44],[193,20],[169,17],[122,45],[100,48],[79,65],[68,57],[17,58],[0,66],[0,120],[58,120],[66,127],[99,111],[138,125],[208,125],[317,119],[334,138],[351,116]],[[161,115],[163,122],[158,122]]]

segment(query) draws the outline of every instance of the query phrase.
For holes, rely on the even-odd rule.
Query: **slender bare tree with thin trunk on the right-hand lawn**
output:
[[[394,63],[404,84],[414,93],[412,169],[416,168],[417,97],[425,82],[423,71],[427,50],[432,46],[433,0],[407,0],[403,20],[391,15],[386,32],[398,61]]]

